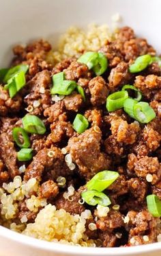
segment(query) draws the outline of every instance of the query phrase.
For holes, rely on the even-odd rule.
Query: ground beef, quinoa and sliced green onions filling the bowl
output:
[[[160,241],[160,57],[130,27],[105,39],[57,64],[44,40],[18,45],[0,70],[1,225],[78,246]]]

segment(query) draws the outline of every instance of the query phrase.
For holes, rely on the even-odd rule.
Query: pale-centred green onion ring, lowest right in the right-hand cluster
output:
[[[138,102],[134,104],[134,117],[140,123],[147,124],[156,117],[156,113],[147,102]]]

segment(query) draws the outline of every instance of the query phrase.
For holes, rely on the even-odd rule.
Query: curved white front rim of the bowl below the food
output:
[[[34,237],[29,237],[16,231],[12,231],[3,226],[0,226],[0,237],[4,237],[13,242],[18,242],[31,248],[45,250],[46,252],[65,253],[65,255],[111,255],[111,256],[124,256],[124,255],[137,255],[138,253],[149,253],[154,251],[161,251],[161,242],[153,244],[146,244],[140,246],[118,247],[113,248],[94,248],[93,247],[78,247],[68,244],[59,244],[59,242],[48,242],[38,240]]]

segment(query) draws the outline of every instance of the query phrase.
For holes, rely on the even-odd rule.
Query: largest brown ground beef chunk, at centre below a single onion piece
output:
[[[100,151],[101,130],[93,127],[68,142],[72,161],[79,167],[81,176],[91,178],[100,170],[108,170],[111,161]]]

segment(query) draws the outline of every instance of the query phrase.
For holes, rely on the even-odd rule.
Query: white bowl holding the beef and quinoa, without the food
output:
[[[160,0],[0,0],[0,67],[12,57],[11,47],[34,38],[57,38],[70,25],[111,24],[119,12],[121,25],[134,28],[160,51]],[[127,248],[81,248],[35,240],[0,226],[0,255],[97,255],[123,256],[161,254],[161,243]]]

